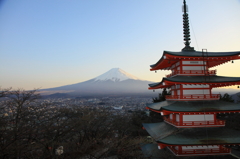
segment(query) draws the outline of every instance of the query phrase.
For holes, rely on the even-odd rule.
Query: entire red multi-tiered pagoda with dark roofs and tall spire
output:
[[[151,103],[147,109],[160,113],[164,122],[143,124],[157,142],[142,149],[168,149],[176,156],[227,155],[240,145],[240,132],[225,127],[218,114],[240,113],[240,105],[219,100],[212,88],[240,85],[240,77],[217,76],[212,67],[240,59],[238,52],[195,51],[190,47],[187,6],[183,5],[185,47],[180,52],[164,51],[151,71],[171,70],[150,90],[170,89],[165,101]],[[156,151],[155,151],[156,152]]]

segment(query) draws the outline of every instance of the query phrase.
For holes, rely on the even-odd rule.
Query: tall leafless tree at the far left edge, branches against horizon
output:
[[[30,104],[39,98],[36,90],[23,89],[1,91],[1,97],[7,97],[1,102],[1,108],[8,113],[1,118],[0,156],[1,158],[19,158],[25,152],[28,134],[28,117],[31,114]]]

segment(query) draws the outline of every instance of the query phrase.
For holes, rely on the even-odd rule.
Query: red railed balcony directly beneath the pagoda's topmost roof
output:
[[[177,70],[172,72],[169,75],[166,75],[166,77],[171,77],[175,75],[216,75],[217,70]]]

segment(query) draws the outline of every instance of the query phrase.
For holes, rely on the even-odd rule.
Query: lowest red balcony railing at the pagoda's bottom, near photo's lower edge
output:
[[[220,155],[220,154],[229,154],[231,150],[229,148],[202,148],[202,149],[188,149],[188,150],[178,150],[175,149],[175,146],[168,147],[177,156],[195,156],[195,155]]]

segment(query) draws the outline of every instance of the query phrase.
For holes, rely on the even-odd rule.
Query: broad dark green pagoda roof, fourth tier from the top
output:
[[[168,145],[225,145],[240,143],[240,132],[225,127],[177,129],[165,122],[143,124],[143,127],[158,143]],[[166,130],[168,130],[168,134],[165,132]]]

